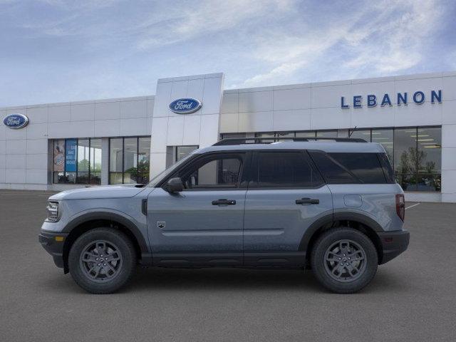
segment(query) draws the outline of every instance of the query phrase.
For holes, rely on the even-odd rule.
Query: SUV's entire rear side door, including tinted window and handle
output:
[[[331,191],[301,150],[254,152],[244,212],[244,264],[301,266],[306,229],[333,213]]]

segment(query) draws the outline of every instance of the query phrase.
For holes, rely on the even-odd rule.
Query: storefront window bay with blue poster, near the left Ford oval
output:
[[[101,139],[53,141],[54,183],[100,184],[100,177]]]

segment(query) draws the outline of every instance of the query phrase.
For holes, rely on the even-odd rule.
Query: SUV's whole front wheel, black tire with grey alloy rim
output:
[[[102,254],[103,250],[106,251],[105,255]],[[97,261],[95,257],[98,257]],[[110,261],[104,259],[106,257]],[[111,294],[127,284],[133,276],[136,268],[135,247],[127,235],[117,229],[92,229],[78,237],[71,246],[68,268],[76,284],[84,290],[92,294]]]

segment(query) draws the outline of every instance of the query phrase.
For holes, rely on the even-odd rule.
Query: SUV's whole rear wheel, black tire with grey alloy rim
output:
[[[311,266],[326,289],[351,294],[371,282],[377,271],[378,254],[366,234],[352,228],[334,228],[318,237],[311,253]]]

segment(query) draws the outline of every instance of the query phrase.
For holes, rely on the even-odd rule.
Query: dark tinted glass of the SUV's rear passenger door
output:
[[[259,152],[257,187],[316,187],[321,176],[304,152]]]

